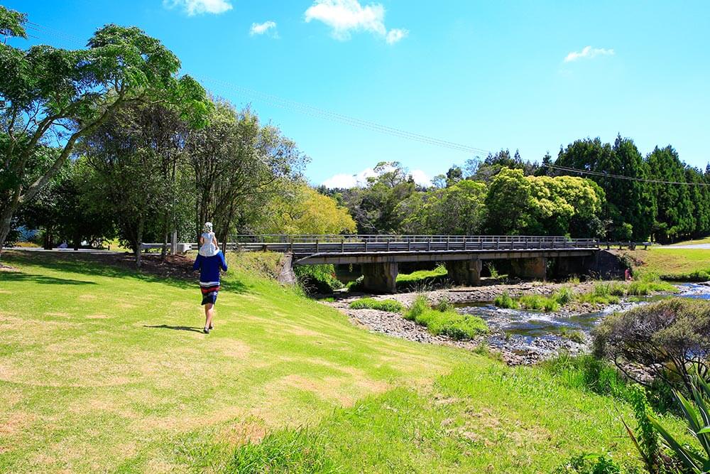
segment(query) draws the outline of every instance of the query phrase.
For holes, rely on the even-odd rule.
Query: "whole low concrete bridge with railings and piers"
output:
[[[478,285],[484,260],[510,260],[516,276],[544,280],[548,262],[558,272],[599,269],[595,239],[503,235],[239,235],[227,244],[241,252],[281,252],[293,264],[358,264],[364,287],[394,293],[399,264],[444,262],[455,284]]]

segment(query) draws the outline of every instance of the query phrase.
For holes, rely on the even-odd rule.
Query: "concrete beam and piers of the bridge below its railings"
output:
[[[438,251],[438,252],[380,252],[377,254],[349,252],[295,256],[295,264],[359,264],[364,277],[364,288],[373,293],[395,293],[398,264],[405,262],[444,262],[449,279],[457,285],[477,286],[481,283],[484,260],[510,260],[515,276],[545,280],[548,259],[557,266],[564,262],[566,269],[584,269],[586,257],[594,257],[594,249],[520,250],[520,251]],[[299,258],[300,257],[300,258]]]

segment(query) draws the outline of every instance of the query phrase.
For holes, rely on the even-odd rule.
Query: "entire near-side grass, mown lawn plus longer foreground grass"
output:
[[[0,273],[0,472],[535,473],[581,451],[633,457],[623,402],[368,333],[265,279],[231,272],[204,335],[192,282],[3,257],[19,271]]]

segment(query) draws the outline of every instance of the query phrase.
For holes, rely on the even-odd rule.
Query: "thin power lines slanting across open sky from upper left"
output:
[[[47,26],[40,25],[38,23],[28,22],[28,28],[33,29],[39,33],[43,33],[46,36],[52,36],[54,38],[60,39],[60,41],[68,41],[70,43],[81,44],[82,47],[85,46],[84,42],[72,36],[68,33],[63,33],[62,31],[55,30],[54,28],[49,28]],[[306,114],[310,117],[316,117],[319,119],[329,120],[330,122],[337,122],[340,124],[345,124],[353,126],[355,128],[364,129],[367,131],[376,131],[380,134],[386,134],[389,136],[395,136],[401,139],[407,139],[410,141],[417,141],[422,144],[428,144],[432,146],[439,146],[442,148],[452,149],[454,151],[461,151],[463,153],[470,153],[473,155],[488,154],[491,151],[486,149],[481,149],[475,146],[469,146],[466,144],[459,144],[449,140],[437,139],[432,136],[427,136],[423,134],[417,134],[411,131],[406,131],[403,129],[397,129],[392,126],[386,126],[383,124],[378,124],[370,120],[357,119],[355,117],[350,117],[345,114],[340,114],[338,112],[333,112],[327,109],[320,109],[318,107],[313,107],[308,104],[303,104],[301,102],[295,102],[290,99],[284,99],[283,97],[278,97],[276,95],[271,95],[266,92],[261,92],[258,90],[249,89],[248,87],[242,87],[240,85],[235,85],[224,80],[214,79],[207,76],[196,76],[203,85],[209,83],[212,87],[206,87],[207,89],[214,90],[214,87],[219,87],[222,90],[229,90],[230,92],[241,95],[242,97],[248,97],[250,99],[256,99],[259,102],[273,105],[274,107],[279,107],[281,109],[290,110],[293,112],[298,112],[300,114]]]

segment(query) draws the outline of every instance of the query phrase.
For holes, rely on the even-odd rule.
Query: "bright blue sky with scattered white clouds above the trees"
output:
[[[618,132],[644,154],[672,144],[693,166],[710,161],[709,1],[2,4],[44,27],[28,43],[77,48],[104,23],[143,28],[185,72],[295,139],[315,184],[351,183],[378,161],[400,161],[425,181],[475,153],[277,107],[244,89],[535,161]]]

